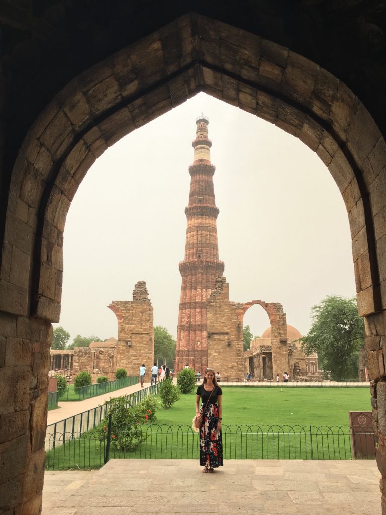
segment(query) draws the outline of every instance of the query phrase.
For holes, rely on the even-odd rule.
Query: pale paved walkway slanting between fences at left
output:
[[[144,386],[150,386],[150,383],[144,383]],[[129,393],[135,393],[141,389],[141,383],[138,383],[136,385],[127,386],[126,388],[120,388],[119,390],[104,393],[98,397],[85,399],[84,401],[59,402],[59,409],[51,409],[48,411],[47,426],[55,424],[55,422],[59,422],[60,420],[73,417],[74,415],[78,415],[78,413],[83,413],[83,411],[93,409],[99,404],[103,404],[104,401],[108,401],[112,397],[128,395]]]

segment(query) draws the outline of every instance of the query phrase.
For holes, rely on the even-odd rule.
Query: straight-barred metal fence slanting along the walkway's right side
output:
[[[153,386],[142,388],[135,393],[130,393],[125,396],[126,403],[127,405],[130,404],[131,406],[135,406],[137,402],[142,401],[142,399],[148,396],[149,393],[156,395],[159,388],[160,383],[156,383]],[[55,424],[47,426],[45,443],[48,444],[48,442],[50,442],[50,444],[55,447],[58,444],[65,443],[68,440],[73,440],[84,433],[92,431],[100,424],[101,420],[107,416],[109,407],[110,402],[107,402],[106,404],[101,404],[93,409],[83,411],[78,415],[74,415],[73,417],[60,420],[59,422],[55,422]]]

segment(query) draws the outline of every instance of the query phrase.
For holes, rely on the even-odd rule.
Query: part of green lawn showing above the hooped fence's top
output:
[[[169,410],[157,411],[157,423],[191,424],[195,393],[181,395]],[[348,411],[371,411],[367,388],[253,388],[226,386],[224,425],[348,425]]]

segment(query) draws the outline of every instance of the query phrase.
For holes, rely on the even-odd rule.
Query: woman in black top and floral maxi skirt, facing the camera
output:
[[[199,403],[201,399],[201,408]],[[214,472],[222,462],[222,390],[217,384],[213,368],[207,368],[202,384],[196,391],[196,415],[201,423],[200,465],[203,472]],[[206,407],[205,407],[206,406]]]

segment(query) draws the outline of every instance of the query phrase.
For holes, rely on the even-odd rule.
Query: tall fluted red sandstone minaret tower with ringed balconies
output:
[[[213,174],[208,139],[209,120],[201,113],[196,119],[196,139],[192,143],[193,164],[189,166],[189,205],[185,209],[185,260],[180,263],[182,276],[178,317],[176,363],[179,371],[188,363],[204,373],[207,366],[206,300],[214,289],[216,277],[222,276],[224,263],[218,258]]]

